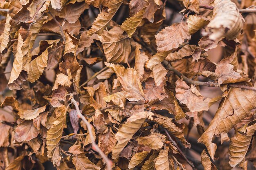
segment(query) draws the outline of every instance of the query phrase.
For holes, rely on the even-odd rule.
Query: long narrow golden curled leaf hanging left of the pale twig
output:
[[[54,149],[61,140],[62,132],[64,129],[64,121],[66,117],[67,107],[62,105],[54,110],[58,115],[53,122],[51,128],[47,130],[46,145],[47,145],[47,157],[51,158]]]

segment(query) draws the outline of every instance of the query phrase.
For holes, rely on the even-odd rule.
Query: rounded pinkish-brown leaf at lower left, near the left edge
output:
[[[18,142],[27,142],[37,137],[38,130],[34,126],[33,121],[25,120],[15,129],[14,140]]]

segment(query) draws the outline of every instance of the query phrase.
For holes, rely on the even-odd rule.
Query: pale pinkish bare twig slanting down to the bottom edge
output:
[[[99,148],[99,146],[95,143],[94,141],[94,137],[92,135],[92,125],[85,119],[85,117],[82,115],[82,113],[80,112],[79,106],[78,106],[78,102],[76,102],[76,100],[74,99],[73,95],[70,95],[71,97],[71,102],[75,105],[76,107],[76,113],[77,116],[80,117],[84,123],[87,126],[90,138],[92,140],[92,149],[97,151],[99,153],[99,155],[101,155],[102,159],[106,162],[107,165],[107,169],[111,170],[112,168],[112,161],[110,161],[110,159],[108,159],[108,157],[102,152],[102,150]]]

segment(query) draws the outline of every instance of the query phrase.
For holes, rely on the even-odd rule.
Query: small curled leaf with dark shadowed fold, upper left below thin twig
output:
[[[65,49],[64,49],[64,53],[63,55],[67,54],[67,53],[74,53],[76,54],[76,49],[78,47],[78,40],[71,35],[70,33],[68,33],[68,30],[64,30],[64,34],[65,34]]]

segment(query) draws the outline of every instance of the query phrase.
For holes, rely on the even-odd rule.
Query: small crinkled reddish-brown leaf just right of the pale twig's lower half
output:
[[[117,140],[115,139],[115,134],[112,132],[111,128],[107,128],[103,134],[99,135],[99,148],[106,155],[112,152],[116,142]]]

